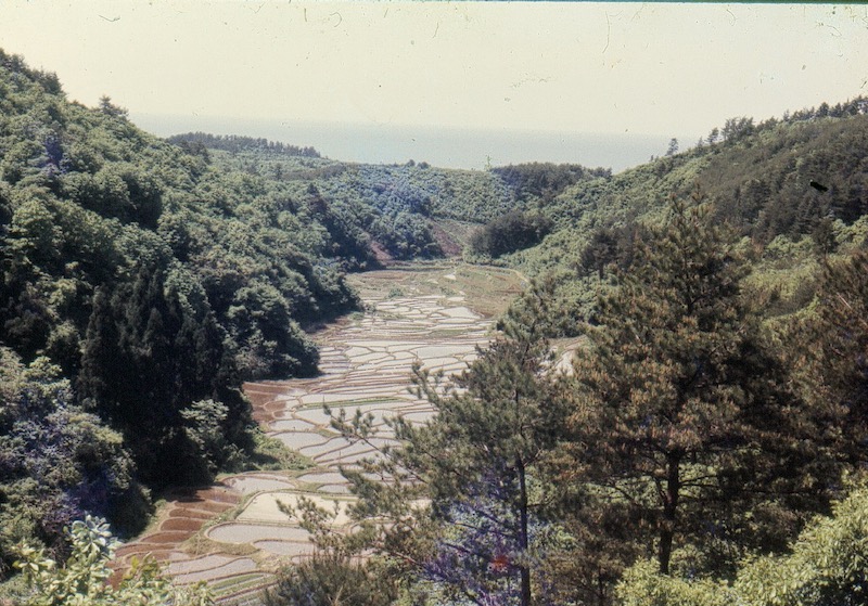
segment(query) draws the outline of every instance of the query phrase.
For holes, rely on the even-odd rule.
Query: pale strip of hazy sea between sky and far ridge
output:
[[[265,138],[314,147],[324,157],[363,164],[426,162],[439,168],[483,170],[527,162],[625,168],[666,153],[676,137],[681,149],[699,136],[549,132],[522,129],[458,129],[395,125],[294,123],[204,116],[131,114],[140,128],[158,137],[191,131]]]

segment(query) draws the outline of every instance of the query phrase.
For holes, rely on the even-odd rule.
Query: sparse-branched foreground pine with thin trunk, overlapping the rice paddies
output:
[[[367,540],[356,552],[373,545],[399,556],[450,603],[550,603],[540,465],[566,414],[552,398],[550,300],[533,288],[455,385],[417,370],[419,395],[437,414],[422,427],[396,420],[403,446],[365,474],[344,472],[360,497],[352,513],[362,530],[336,549]],[[334,425],[354,440],[371,437],[361,416]],[[420,499],[431,507],[408,508]]]

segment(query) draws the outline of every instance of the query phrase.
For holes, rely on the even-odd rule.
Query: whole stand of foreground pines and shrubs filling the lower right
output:
[[[551,372],[553,280],[452,386],[420,370],[438,414],[395,421],[403,446],[344,472],[349,537],[303,507],[319,546],[380,554],[367,566],[432,606],[863,603],[864,495],[846,487],[865,463],[866,253],[825,261],[810,309],[768,317],[755,253],[711,205],[660,215],[605,269],[571,372]]]

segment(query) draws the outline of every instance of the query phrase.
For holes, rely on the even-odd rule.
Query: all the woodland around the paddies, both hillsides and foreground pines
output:
[[[868,101],[679,147],[612,175],[162,140],[0,51],[0,577],[90,550],[101,582],[88,516],[132,534],[151,490],[250,464],[241,384],[317,372],[345,272],[464,246],[532,285],[451,388],[417,371],[441,414],[395,422],[393,481],[348,474],[359,531],[270,603],[863,603]]]

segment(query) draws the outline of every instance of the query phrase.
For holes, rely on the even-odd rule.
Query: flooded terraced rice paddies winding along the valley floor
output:
[[[331,429],[322,405],[348,417],[370,413],[382,429],[378,443],[391,443],[386,418],[424,423],[433,414],[408,391],[412,363],[447,374],[463,370],[488,339],[488,318],[520,288],[514,272],[467,266],[371,272],[355,276],[354,286],[367,311],[317,335],[320,376],[245,385],[255,418],[314,467],[239,474],[169,500],[155,530],[122,549],[122,563],[152,553],[182,583],[206,581],[221,602],[256,603],[252,596],[279,566],[312,552],[307,532],[278,503],[304,495],[337,506],[336,524],[346,525],[353,497],[339,466],[376,455]]]

